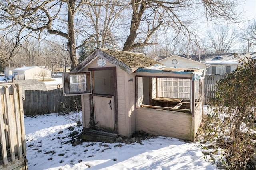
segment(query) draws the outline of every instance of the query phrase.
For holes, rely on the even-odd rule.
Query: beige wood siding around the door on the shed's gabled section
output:
[[[115,67],[112,63],[106,62],[104,67]],[[81,71],[88,71],[89,68],[104,68],[97,65],[97,57]],[[132,80],[131,80],[132,78]],[[129,81],[130,80],[130,81]],[[116,67],[117,82],[117,103],[118,103],[118,134],[130,136],[136,130],[136,109],[135,109],[135,76]],[[84,128],[89,128],[90,122],[90,100],[89,95],[83,95],[83,123]]]

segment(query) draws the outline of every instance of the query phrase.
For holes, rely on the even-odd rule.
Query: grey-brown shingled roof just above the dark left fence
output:
[[[12,82],[11,80],[8,82]],[[25,98],[25,90],[43,90],[46,91],[46,85],[43,82],[40,82],[36,79],[28,80],[15,80],[16,84],[19,84],[22,88],[22,98]]]

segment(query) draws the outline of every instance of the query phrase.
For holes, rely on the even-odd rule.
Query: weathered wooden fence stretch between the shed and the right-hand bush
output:
[[[225,75],[206,75],[204,78],[204,104],[207,104],[211,98],[215,98],[216,81],[224,78]]]

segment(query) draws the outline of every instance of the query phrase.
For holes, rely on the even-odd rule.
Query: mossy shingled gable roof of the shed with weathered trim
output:
[[[137,68],[144,68],[154,66],[155,64],[160,64],[153,59],[146,57],[145,54],[142,53],[132,53],[128,51],[120,51],[120,50],[112,50],[112,49],[103,49],[96,48],[92,51],[86,59],[84,59],[81,63],[79,63],[72,72],[82,70],[86,65],[94,61],[97,57],[102,57],[106,59],[108,62],[116,65],[120,69],[131,74]]]

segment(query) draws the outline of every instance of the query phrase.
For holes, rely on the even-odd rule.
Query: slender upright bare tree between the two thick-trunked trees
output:
[[[88,5],[81,9],[88,16],[87,22],[92,23],[91,34],[94,36],[87,42],[95,43],[100,48],[118,47],[118,31],[124,18],[122,12],[128,4],[120,0],[92,0],[90,3],[99,5]]]

